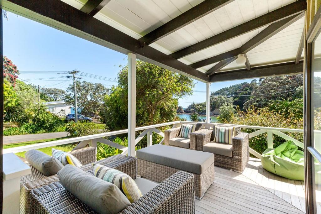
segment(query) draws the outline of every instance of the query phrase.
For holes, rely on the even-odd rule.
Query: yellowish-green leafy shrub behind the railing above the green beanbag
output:
[[[286,119],[284,115],[270,111],[268,108],[251,107],[247,112],[242,112],[238,109],[237,114],[232,117],[230,124],[265,126],[273,128],[289,128],[303,129],[303,119],[297,118],[294,115],[289,115]],[[242,129],[242,132],[252,133],[256,129]],[[284,132],[292,138],[303,142],[303,133]],[[281,145],[286,140],[273,134],[273,148]],[[267,133],[260,134],[250,139],[250,148],[256,150],[260,154],[267,149]],[[300,150],[303,150],[299,148]]]

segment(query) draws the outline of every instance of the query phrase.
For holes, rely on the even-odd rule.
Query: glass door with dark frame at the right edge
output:
[[[305,55],[305,187],[307,213],[321,213],[321,16],[307,33]]]

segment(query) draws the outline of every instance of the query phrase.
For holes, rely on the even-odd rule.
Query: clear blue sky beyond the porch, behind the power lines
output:
[[[8,14],[9,20],[3,22],[4,55],[18,66],[19,78],[35,85],[65,90],[71,79],[63,71],[77,69],[85,73],[108,77],[111,81],[84,77],[83,81],[100,82],[106,87],[117,84],[118,65],[127,64],[127,56],[117,51],[80,39],[60,30],[48,27],[22,16]],[[30,74],[23,72],[54,72],[50,74]],[[48,79],[59,77],[55,79]],[[38,80],[35,80],[38,79]],[[41,79],[41,80],[40,80]],[[251,80],[212,83],[210,90]],[[206,84],[195,81],[193,90],[205,91]],[[194,92],[193,95],[179,99],[179,105],[187,107],[193,101],[204,102],[206,93]]]

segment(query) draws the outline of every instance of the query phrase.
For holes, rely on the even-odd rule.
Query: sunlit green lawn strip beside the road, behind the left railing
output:
[[[27,145],[32,145],[32,144],[36,144],[36,143],[43,143],[43,142],[50,142],[50,141],[57,141],[57,140],[62,140],[62,139],[66,139],[69,137],[61,137],[61,138],[53,138],[53,139],[47,139],[47,140],[38,140],[38,141],[28,141],[28,142],[21,142],[21,143],[12,143],[12,144],[6,144],[3,146],[4,149],[8,149],[8,148],[13,148],[13,147],[18,147],[18,146],[27,146]],[[51,155],[51,149],[55,148],[58,150],[62,150],[62,151],[71,151],[73,150],[73,148],[75,147],[75,145],[77,145],[78,143],[69,143],[69,144],[65,144],[65,145],[59,145],[59,146],[52,146],[52,147],[46,147],[46,148],[41,148],[38,149],[39,151],[42,151],[48,155]],[[25,157],[24,154],[26,152],[18,152],[15,153],[18,156],[21,157]]]

